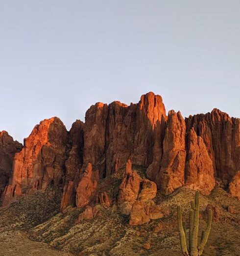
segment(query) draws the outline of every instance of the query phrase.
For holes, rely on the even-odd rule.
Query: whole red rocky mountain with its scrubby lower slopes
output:
[[[149,92],[129,106],[98,102],[70,131],[45,119],[24,145],[0,133],[0,230],[26,232],[36,250],[41,241],[66,255],[181,255],[175,208],[187,210],[194,190],[201,216],[215,214],[205,255],[240,255],[240,119],[167,115]]]

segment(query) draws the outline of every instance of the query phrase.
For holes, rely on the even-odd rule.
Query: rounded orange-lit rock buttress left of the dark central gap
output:
[[[14,198],[64,179],[68,133],[59,118],[45,119],[24,139],[21,152],[15,154],[13,178],[4,191],[3,205]]]

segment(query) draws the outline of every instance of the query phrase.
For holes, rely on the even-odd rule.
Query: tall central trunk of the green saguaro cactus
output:
[[[199,191],[196,191],[195,210],[193,214],[191,256],[198,256],[198,248],[197,248],[198,227],[199,227]]]

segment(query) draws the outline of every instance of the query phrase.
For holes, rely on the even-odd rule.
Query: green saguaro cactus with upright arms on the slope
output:
[[[212,210],[208,211],[207,229],[202,231],[202,238],[197,245],[198,227],[199,227],[199,191],[195,193],[195,201],[191,201],[192,210],[189,212],[189,247],[187,247],[186,230],[182,221],[181,206],[177,206],[177,223],[180,237],[182,253],[184,256],[200,256],[203,253],[203,248],[207,243],[208,236],[211,230]]]

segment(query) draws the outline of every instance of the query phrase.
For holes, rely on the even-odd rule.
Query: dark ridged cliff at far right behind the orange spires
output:
[[[216,176],[225,184],[240,170],[240,119],[214,109],[186,119],[187,131],[194,128],[205,145]]]

